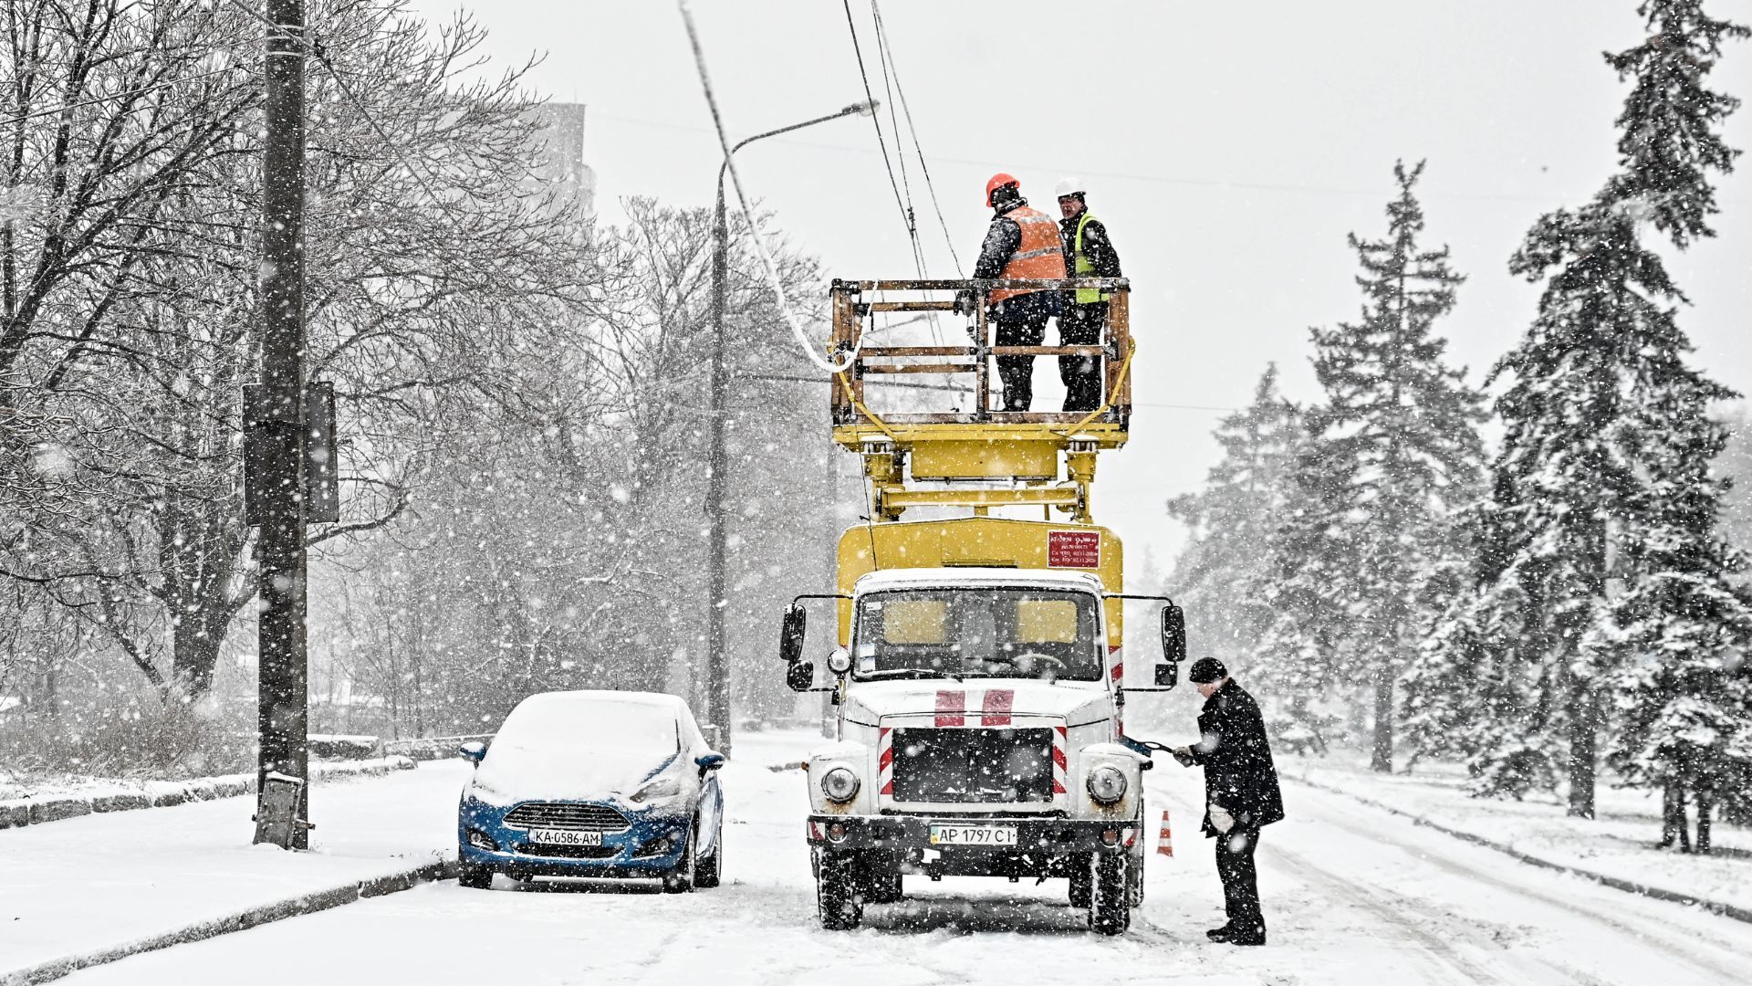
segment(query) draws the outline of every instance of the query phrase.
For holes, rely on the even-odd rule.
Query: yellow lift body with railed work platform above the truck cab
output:
[[[1099,288],[1107,323],[1093,346],[995,346],[986,318],[995,289]],[[976,298],[965,344],[883,346],[872,340],[883,312],[950,312],[955,297]],[[1091,519],[1095,458],[1127,442],[1132,418],[1130,282],[1123,277],[1055,281],[834,281],[830,356],[846,368],[832,389],[834,442],[858,453],[869,481],[869,523],[839,540],[839,591],[878,568],[999,567],[1086,570],[1107,591],[1123,591],[1120,539]],[[1100,356],[1102,404],[1093,411],[995,411],[995,356]],[[1037,367],[1039,370],[1039,367]],[[971,407],[876,412],[865,402],[872,377],[971,375]],[[878,384],[880,386],[880,384]],[[972,516],[902,521],[915,507],[965,507]],[[1041,507],[1039,519],[993,518],[993,507]],[[1055,521],[1055,511],[1062,519]],[[841,604],[841,644],[851,605]],[[1109,632],[1120,644],[1118,600]]]

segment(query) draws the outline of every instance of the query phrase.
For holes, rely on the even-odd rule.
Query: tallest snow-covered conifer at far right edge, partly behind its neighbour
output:
[[[1624,172],[1608,193],[1685,249],[1713,235],[1708,172],[1731,172],[1740,154],[1717,132],[1738,100],[1710,91],[1705,75],[1724,39],[1752,32],[1708,18],[1699,0],[1656,0],[1640,12],[1652,35],[1607,56],[1621,79],[1635,79],[1619,116]],[[1671,297],[1684,300],[1677,288]],[[1610,761],[1628,781],[1666,793],[1668,839],[1684,837],[1684,795],[1694,793],[1698,851],[1706,853],[1712,805],[1743,809],[1752,798],[1752,679],[1740,665],[1752,597],[1733,581],[1743,558],[1717,532],[1727,482],[1712,475],[1712,461],[1727,432],[1706,414],[1710,400],[1733,395],[1684,365],[1689,340],[1673,311],[1659,316],[1670,349],[1645,356],[1657,375],[1636,409],[1647,482],[1628,504],[1631,523],[1617,544],[1631,579],[1589,646],[1621,668],[1610,681],[1622,716]]]

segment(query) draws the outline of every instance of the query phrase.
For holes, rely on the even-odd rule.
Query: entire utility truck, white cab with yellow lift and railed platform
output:
[[[990,291],[1042,286],[1109,291],[1100,342],[993,346]],[[878,316],[948,312],[964,291],[979,302],[967,344],[874,344]],[[1151,761],[1121,712],[1127,691],[1176,684],[1186,644],[1172,600],[1125,593],[1123,546],[1091,521],[1095,460],[1127,440],[1127,297],[1123,279],[832,286],[832,353],[846,365],[834,442],[862,456],[869,518],[839,539],[836,591],[799,595],[780,635],[790,688],[830,691],[837,711],[836,742],[808,758],[827,928],[901,900],[906,877],[1067,879],[1070,905],[1109,935],[1142,902]],[[1013,354],[1099,358],[1102,407],[992,411],[988,367]],[[872,411],[867,384],[885,374],[974,386],[951,411]],[[811,600],[834,611],[825,684],[804,654]],[[1127,684],[1125,600],[1160,604],[1160,663],[1142,688]]]

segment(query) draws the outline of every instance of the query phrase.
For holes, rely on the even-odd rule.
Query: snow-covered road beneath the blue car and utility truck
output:
[[[865,926],[822,932],[801,839],[795,772],[809,737],[748,735],[725,768],[725,886],[685,897],[643,884],[524,891],[422,886],[322,914],[93,968],[72,982],[964,982],[1346,984],[1745,982],[1752,925],[1515,863],[1342,798],[1289,786],[1260,884],[1270,944],[1214,946],[1211,842],[1197,837],[1198,774],[1149,774],[1179,854],[1151,854],[1132,932],[1099,939],[1041,886],[908,877],[909,900]]]

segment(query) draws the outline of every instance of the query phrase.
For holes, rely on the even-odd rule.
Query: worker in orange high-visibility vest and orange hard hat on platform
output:
[[[992,226],[979,247],[974,279],[1065,277],[1058,223],[1028,207],[1028,200],[1021,196],[1021,182],[1002,172],[992,175],[986,182],[986,205],[992,207]],[[1046,340],[1046,319],[1058,316],[1062,309],[1060,291],[992,291],[986,318],[997,325],[993,346],[1041,346]],[[957,297],[957,311],[974,311],[972,291]],[[1027,411],[1034,402],[1034,356],[999,356],[997,375],[1004,382],[1004,411]]]

